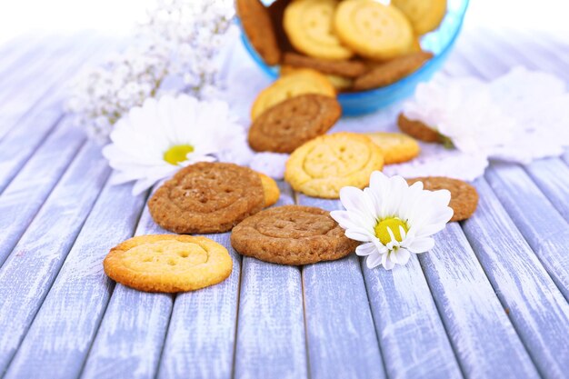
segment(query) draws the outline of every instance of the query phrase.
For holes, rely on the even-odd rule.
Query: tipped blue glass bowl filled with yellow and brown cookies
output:
[[[236,7],[245,45],[266,72],[318,71],[340,93],[345,115],[410,95],[440,65],[427,62],[443,59],[420,40],[443,21],[446,0],[237,0]],[[444,55],[454,36],[440,39],[448,46],[436,50]]]

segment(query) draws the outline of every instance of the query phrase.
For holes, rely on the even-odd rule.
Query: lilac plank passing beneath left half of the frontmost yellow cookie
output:
[[[145,207],[135,234],[165,233]],[[173,304],[173,294],[116,284],[81,377],[154,378]]]

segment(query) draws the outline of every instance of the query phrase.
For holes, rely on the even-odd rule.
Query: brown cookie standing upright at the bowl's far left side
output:
[[[275,28],[265,5],[259,0],[237,0],[237,14],[251,45],[267,65],[281,61],[281,50],[276,42]]]

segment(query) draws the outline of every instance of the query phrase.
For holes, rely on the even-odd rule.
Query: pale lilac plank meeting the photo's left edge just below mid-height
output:
[[[0,229],[4,231],[0,234],[0,264],[12,252],[84,144],[85,133],[82,130],[67,122],[58,125],[0,195]],[[1,183],[5,183],[4,174],[0,174]],[[81,178],[81,181],[85,181],[85,178]],[[75,197],[76,194],[71,199]]]

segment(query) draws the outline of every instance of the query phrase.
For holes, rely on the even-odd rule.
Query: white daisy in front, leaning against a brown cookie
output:
[[[367,256],[369,268],[382,264],[391,270],[395,264],[406,264],[411,253],[430,250],[431,235],[443,230],[453,216],[449,191],[427,191],[421,182],[409,186],[403,177],[388,178],[379,171],[363,191],[342,188],[340,200],[345,211],[331,215],[348,238],[364,243],[355,254]]]

